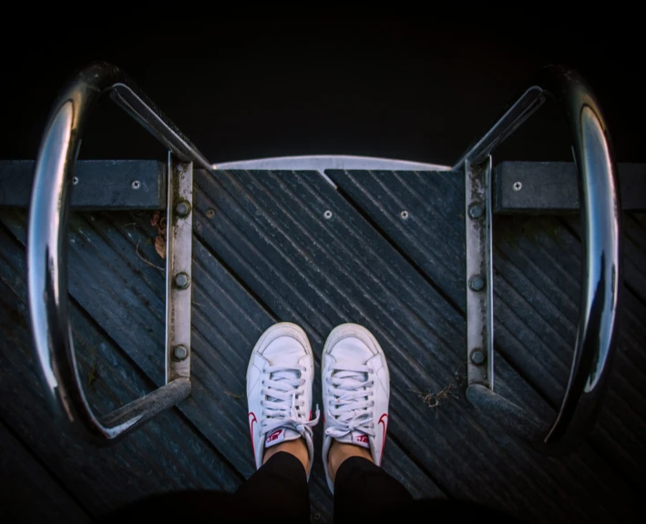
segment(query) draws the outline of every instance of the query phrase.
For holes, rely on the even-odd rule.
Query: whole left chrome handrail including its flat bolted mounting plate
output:
[[[149,395],[104,417],[87,403],[78,377],[67,297],[69,186],[83,130],[109,94],[170,150],[167,235],[167,377]],[[190,395],[190,260],[192,166],[210,163],[117,67],[81,70],[56,100],[36,159],[29,205],[27,283],[32,335],[46,399],[56,415],[98,443],[115,441]],[[170,280],[172,278],[172,281]]]

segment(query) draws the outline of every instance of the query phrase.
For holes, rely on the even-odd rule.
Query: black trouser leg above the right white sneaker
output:
[[[334,522],[383,517],[385,511],[413,501],[407,489],[384,469],[361,457],[344,460],[334,478]]]

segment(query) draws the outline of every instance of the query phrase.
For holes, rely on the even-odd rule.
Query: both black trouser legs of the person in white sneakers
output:
[[[334,480],[334,522],[368,522],[368,519],[405,522],[466,522],[491,517],[497,524],[517,522],[477,504],[456,500],[413,500],[402,484],[370,460],[347,459]],[[385,520],[384,520],[385,519]],[[310,522],[310,492],[299,459],[277,453],[234,494],[183,491],[161,494],[119,509],[105,521],[126,522],[230,522],[253,520]]]

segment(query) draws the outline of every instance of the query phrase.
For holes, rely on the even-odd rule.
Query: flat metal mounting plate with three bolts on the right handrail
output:
[[[491,267],[491,161],[465,162],[465,207],[484,209],[484,220],[465,220],[467,255],[467,379],[469,384],[494,387],[493,280]],[[484,290],[484,292],[483,292]],[[487,352],[487,366],[476,362],[476,352]],[[484,360],[484,358],[483,358]]]

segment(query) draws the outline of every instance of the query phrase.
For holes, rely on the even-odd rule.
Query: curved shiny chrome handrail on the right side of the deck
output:
[[[496,126],[464,156],[458,166],[464,164],[467,174],[479,175],[477,180],[472,181],[472,186],[486,184],[491,152],[547,96],[553,96],[559,101],[569,121],[574,159],[579,170],[579,200],[583,224],[585,260],[581,276],[579,328],[568,388],[559,414],[551,425],[531,417],[522,408],[494,393],[491,371],[486,378],[478,380],[477,374],[471,373],[469,367],[467,398],[522,438],[536,442],[549,452],[563,452],[578,445],[589,434],[596,420],[607,386],[616,339],[621,282],[621,207],[617,169],[610,149],[608,128],[600,107],[583,78],[575,71],[551,66],[545,69],[540,86],[530,87]],[[468,178],[467,175],[467,180]],[[490,186],[487,194],[490,198]],[[487,209],[487,215],[490,216],[490,207],[487,206]],[[469,227],[472,227],[473,221],[467,220],[466,223],[468,248]],[[487,245],[491,245],[490,237]],[[481,251],[481,247],[479,249]],[[491,288],[492,265],[490,257],[486,259],[488,292]],[[472,274],[469,260],[467,253],[467,278]],[[485,337],[493,340],[493,320],[490,317],[492,307],[488,301],[487,304],[469,302],[470,293],[467,290],[467,334],[472,331],[472,321],[483,323],[487,318]],[[478,307],[472,309],[474,304]],[[472,340],[469,340],[469,353],[472,350],[471,344]],[[487,357],[490,356],[487,348]]]

